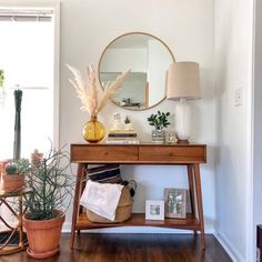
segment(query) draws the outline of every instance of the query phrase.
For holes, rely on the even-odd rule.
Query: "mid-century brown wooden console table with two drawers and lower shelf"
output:
[[[202,192],[200,179],[200,163],[206,162],[205,144],[71,144],[71,162],[78,163],[77,183],[74,192],[71,249],[74,244],[75,231],[84,229],[112,228],[112,226],[161,226],[193,230],[201,232],[201,245],[205,249],[204,218],[202,206]],[[164,221],[145,220],[143,213],[133,213],[131,219],[123,223],[92,223],[84,213],[81,213],[79,201],[83,191],[83,179],[88,164],[120,163],[120,164],[172,164],[185,165],[188,169],[191,213],[187,219],[165,219]],[[196,203],[196,206],[195,206]]]

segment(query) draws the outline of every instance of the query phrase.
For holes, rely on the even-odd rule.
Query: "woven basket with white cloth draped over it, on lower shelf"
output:
[[[125,185],[122,189],[118,208],[115,210],[114,221],[108,220],[93,213],[91,210],[87,210],[88,219],[94,223],[121,223],[129,220],[132,215],[132,198],[130,195],[129,188]]]

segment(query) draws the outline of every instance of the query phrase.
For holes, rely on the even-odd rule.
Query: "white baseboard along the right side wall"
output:
[[[245,262],[245,258],[235,249],[234,244],[224,234],[214,231],[214,236],[233,262]]]

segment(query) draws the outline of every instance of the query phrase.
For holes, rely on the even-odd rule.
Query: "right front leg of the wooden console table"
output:
[[[200,222],[200,231],[201,231],[201,245],[202,245],[202,250],[205,250],[204,215],[203,215],[202,191],[201,191],[201,179],[200,179],[199,164],[193,164],[193,170],[194,170],[193,173],[194,173],[198,213],[199,213],[199,222]]]

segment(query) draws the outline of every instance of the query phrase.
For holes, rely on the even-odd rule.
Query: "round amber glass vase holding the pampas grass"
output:
[[[91,117],[91,120],[83,125],[82,134],[88,142],[97,143],[104,138],[105,129],[103,124],[98,121],[95,115]]]

